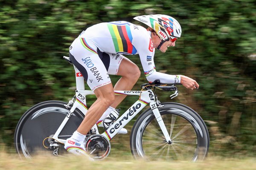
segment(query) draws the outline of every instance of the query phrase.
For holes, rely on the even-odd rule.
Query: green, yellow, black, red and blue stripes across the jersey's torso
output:
[[[115,25],[113,23],[108,23],[107,25],[115,46],[116,53],[137,53],[136,48],[131,44],[132,35],[130,26],[128,26],[128,24]]]

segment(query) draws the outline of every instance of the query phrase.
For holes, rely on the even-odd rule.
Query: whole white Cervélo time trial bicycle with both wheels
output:
[[[71,64],[69,57],[68,60]],[[68,103],[46,101],[32,106],[17,123],[14,142],[21,157],[32,158],[45,150],[55,156],[64,156],[66,139],[72,136],[87,113],[86,96],[93,91],[84,90],[84,77],[76,71],[76,95]],[[202,160],[209,150],[209,133],[203,119],[194,110],[176,102],[157,99],[155,90],[174,91],[177,87],[156,80],[142,85],[141,91],[114,91],[116,95],[139,96],[139,99],[112,125],[99,133],[94,125],[85,139],[85,148],[91,158],[104,159],[111,150],[110,141],[146,105],[137,118],[130,136],[131,153],[135,159],[148,160]]]

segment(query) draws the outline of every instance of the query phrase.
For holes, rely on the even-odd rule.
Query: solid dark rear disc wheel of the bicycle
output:
[[[65,102],[45,101],[32,106],[21,116],[17,123],[14,135],[14,144],[20,157],[32,158],[38,152],[52,153],[52,149],[43,146],[45,138],[53,135],[69,113]],[[84,115],[76,109],[58,138],[67,139],[78,128]],[[62,137],[61,137],[62,136]],[[49,141],[46,140],[46,143]],[[59,143],[58,153],[66,153],[64,146]]]

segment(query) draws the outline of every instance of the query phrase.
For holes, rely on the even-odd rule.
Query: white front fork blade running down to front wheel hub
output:
[[[154,116],[157,119],[158,125],[160,126],[160,128],[161,128],[161,130],[163,132],[164,137],[166,138],[166,141],[164,141],[164,142],[167,142],[167,143],[171,144],[172,140],[171,140],[170,135],[169,135],[169,133],[168,133],[168,131],[166,129],[166,126],[164,125],[162,116],[160,115],[160,112],[159,112],[159,110],[157,108],[157,103],[156,102],[150,102],[149,105],[150,105],[151,110],[154,113]]]

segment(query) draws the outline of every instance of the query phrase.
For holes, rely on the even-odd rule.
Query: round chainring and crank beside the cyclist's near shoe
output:
[[[105,136],[93,134],[87,137],[85,149],[94,160],[102,160],[110,153],[111,145]]]

